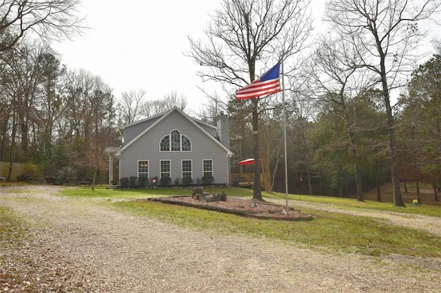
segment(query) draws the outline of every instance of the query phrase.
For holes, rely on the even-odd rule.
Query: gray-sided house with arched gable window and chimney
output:
[[[181,109],[121,127],[123,146],[119,178],[190,177],[193,183],[212,175],[213,184],[229,184],[229,120],[222,113],[217,127],[187,116]]]

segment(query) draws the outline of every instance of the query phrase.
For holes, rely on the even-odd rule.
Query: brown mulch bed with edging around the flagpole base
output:
[[[216,210],[222,213],[230,213],[258,219],[309,221],[313,217],[312,215],[302,213],[300,210],[293,209],[290,209],[288,213],[285,214],[283,213],[285,206],[278,206],[268,202],[258,202],[252,199],[238,199],[236,197],[228,197],[225,202],[204,202],[203,199],[196,199],[191,196],[155,197],[150,198],[149,200],[165,204],[191,206],[193,208],[202,208],[205,210]]]

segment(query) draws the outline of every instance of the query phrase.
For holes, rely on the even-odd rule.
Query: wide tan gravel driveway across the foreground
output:
[[[0,291],[439,292],[441,287],[441,259],[326,253],[196,232],[88,199],[57,197],[55,186],[20,187],[21,193],[18,188],[1,188],[0,206],[28,220],[32,241],[19,250],[0,248],[0,277],[25,279],[14,286],[0,279]]]

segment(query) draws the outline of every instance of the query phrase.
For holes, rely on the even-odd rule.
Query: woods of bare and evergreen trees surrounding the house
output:
[[[245,102],[234,98],[239,87],[258,76],[256,67],[267,69],[275,61],[283,61],[289,193],[347,196],[393,181],[397,176],[400,182],[429,184],[438,198],[440,41],[433,40],[430,58],[419,56],[415,50],[426,36],[418,28],[418,21],[439,12],[440,1],[421,2],[421,6],[410,7],[407,1],[393,1],[395,6],[376,13],[392,15],[400,10],[405,15],[393,14],[400,18],[369,27],[363,23],[356,25],[358,12],[345,6],[346,1],[329,1],[325,21],[334,31],[312,36],[308,6],[303,2],[254,1],[252,6],[246,1],[223,1],[222,8],[213,14],[213,26],[205,32],[207,40],[214,44],[213,50],[189,37],[187,56],[207,68],[197,74],[217,78],[225,87],[222,94],[205,93],[207,102],[200,113],[188,109],[187,98],[192,97],[176,92],[165,97],[147,97],[145,90],[133,89],[116,97],[111,85],[105,84],[100,76],[61,64],[60,56],[52,52],[45,38],[48,30],[41,31],[41,38],[24,35],[14,39],[18,25],[1,27],[0,161],[38,166],[29,169],[21,180],[49,177],[59,183],[72,183],[75,177],[96,177],[107,182],[104,150],[121,145],[122,125],[174,106],[215,124],[223,110],[231,122],[231,171],[244,171],[245,167],[236,163],[254,158],[254,135],[258,133],[260,168],[267,174],[263,188],[283,192],[281,94]],[[369,3],[384,5],[382,1]],[[8,19],[6,4],[0,7],[3,19]],[[45,11],[51,13],[49,8]],[[265,12],[271,12],[268,20],[263,17],[269,15]],[[369,13],[373,15],[373,10]],[[232,21],[235,17],[237,22]],[[264,25],[250,19],[265,21],[265,28],[278,28],[280,23],[271,27],[271,21],[283,20],[280,32],[290,36],[289,43],[278,30],[263,32]],[[376,15],[368,23],[378,19]],[[72,21],[76,23],[76,19]],[[35,21],[34,25],[38,24]],[[227,30],[234,25],[240,30]],[[58,23],[54,28],[62,31],[65,25]],[[250,45],[245,52],[240,52],[240,42],[236,49],[229,47],[231,54],[216,50],[222,42],[231,45],[229,39],[236,37],[245,38],[244,42]],[[261,47],[253,47],[253,42],[258,44],[256,40],[265,41],[259,44]],[[225,67],[227,62],[232,65]],[[12,173],[6,177],[17,180]]]

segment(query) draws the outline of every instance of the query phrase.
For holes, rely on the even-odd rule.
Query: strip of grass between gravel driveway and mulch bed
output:
[[[412,228],[384,225],[369,217],[353,217],[321,210],[313,221],[260,220],[236,215],[149,202],[145,199],[116,202],[112,206],[143,217],[196,230],[282,240],[304,248],[380,255],[398,253],[441,257],[441,237]]]

